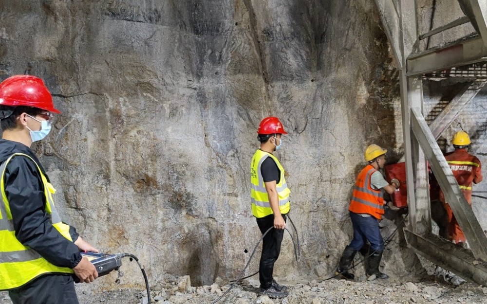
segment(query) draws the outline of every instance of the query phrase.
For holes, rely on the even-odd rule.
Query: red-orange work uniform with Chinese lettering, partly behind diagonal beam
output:
[[[462,193],[468,204],[472,204],[472,183],[482,181],[482,166],[479,159],[468,154],[467,149],[455,149],[455,151],[445,155],[445,159],[450,165],[451,172],[458,182]],[[454,243],[465,242],[460,225],[451,211],[450,205],[445,202],[445,196],[440,191],[440,201],[443,203],[448,217],[448,238]]]

